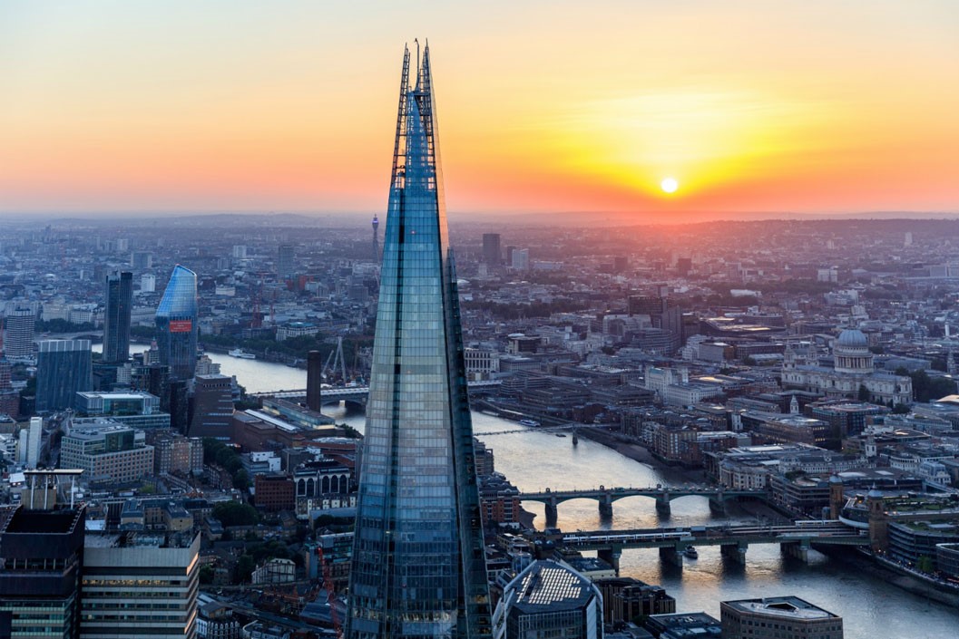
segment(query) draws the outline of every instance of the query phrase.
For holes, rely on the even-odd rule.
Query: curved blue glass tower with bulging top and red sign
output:
[[[156,346],[171,379],[190,379],[197,368],[197,274],[176,264],[156,308]]]

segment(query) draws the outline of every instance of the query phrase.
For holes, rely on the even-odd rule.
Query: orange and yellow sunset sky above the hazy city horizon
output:
[[[10,0],[0,211],[382,211],[414,37],[451,212],[959,213],[956,0]]]

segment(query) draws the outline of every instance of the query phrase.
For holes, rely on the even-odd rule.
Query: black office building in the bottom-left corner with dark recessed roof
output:
[[[85,507],[28,506],[0,508],[0,637],[77,639]]]

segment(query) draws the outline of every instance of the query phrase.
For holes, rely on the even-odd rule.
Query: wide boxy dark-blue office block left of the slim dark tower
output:
[[[36,412],[73,408],[80,391],[93,390],[93,352],[88,339],[40,342],[36,355]]]

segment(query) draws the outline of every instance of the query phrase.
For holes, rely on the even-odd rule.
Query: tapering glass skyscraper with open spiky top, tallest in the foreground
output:
[[[403,57],[347,639],[490,637],[430,48]]]

